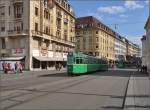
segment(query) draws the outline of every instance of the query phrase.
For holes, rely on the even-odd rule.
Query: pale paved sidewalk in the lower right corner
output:
[[[130,77],[124,110],[150,110],[150,80],[135,72]]]

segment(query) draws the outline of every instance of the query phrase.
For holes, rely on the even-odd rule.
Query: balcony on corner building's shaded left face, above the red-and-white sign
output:
[[[28,30],[8,30],[8,36],[26,36]]]

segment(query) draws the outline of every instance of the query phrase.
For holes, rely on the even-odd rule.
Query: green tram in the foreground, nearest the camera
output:
[[[108,70],[107,60],[89,56],[81,52],[68,53],[67,72],[68,75],[81,75],[94,71]]]

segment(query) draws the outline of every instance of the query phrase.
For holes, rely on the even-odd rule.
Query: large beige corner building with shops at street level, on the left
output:
[[[65,66],[74,38],[67,0],[0,0],[1,63],[18,61],[28,70]]]

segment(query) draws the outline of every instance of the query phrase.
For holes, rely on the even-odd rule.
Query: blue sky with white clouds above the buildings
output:
[[[94,16],[141,46],[149,15],[148,0],[69,0],[76,17]]]

